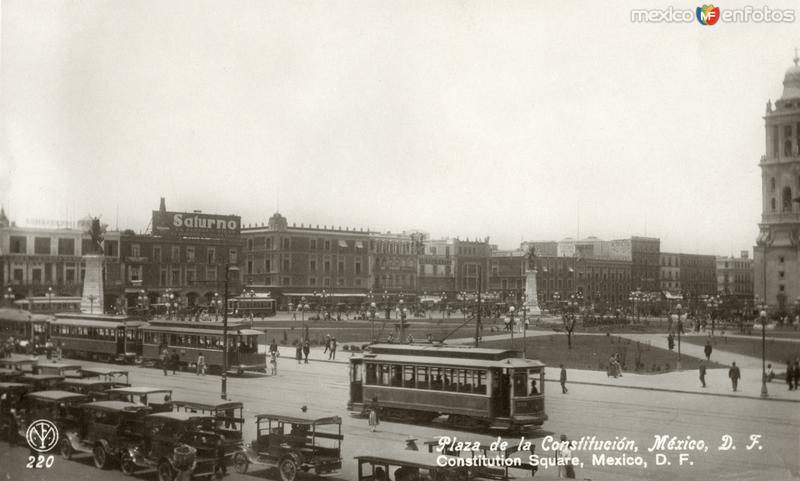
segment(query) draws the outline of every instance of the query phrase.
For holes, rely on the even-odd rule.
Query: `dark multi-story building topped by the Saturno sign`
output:
[[[122,233],[119,275],[106,282],[106,296],[125,299],[127,307],[139,303],[142,291],[151,305],[204,305],[224,296],[226,273],[229,295],[240,293],[239,217],[168,212],[162,198],[152,225],[150,234]]]

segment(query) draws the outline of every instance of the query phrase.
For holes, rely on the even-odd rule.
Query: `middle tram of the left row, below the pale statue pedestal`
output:
[[[68,358],[132,362],[142,353],[138,328],[144,324],[125,315],[58,313],[50,340]]]

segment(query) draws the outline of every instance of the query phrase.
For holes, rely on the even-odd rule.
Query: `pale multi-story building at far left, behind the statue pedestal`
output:
[[[84,266],[81,258],[90,252],[91,240],[86,234],[91,219],[77,223],[76,228],[19,227],[0,210],[0,285],[3,294],[11,292],[15,299],[53,296],[80,296]],[[105,233],[103,242],[103,277],[113,283],[120,273],[120,233]],[[116,296],[107,293],[106,308],[116,305]]]

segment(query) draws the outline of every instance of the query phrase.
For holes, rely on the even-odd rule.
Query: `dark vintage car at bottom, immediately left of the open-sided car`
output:
[[[159,481],[220,478],[224,471],[222,439],[214,418],[187,412],[161,412],[144,417],[142,441],[122,453],[120,469],[155,469]]]

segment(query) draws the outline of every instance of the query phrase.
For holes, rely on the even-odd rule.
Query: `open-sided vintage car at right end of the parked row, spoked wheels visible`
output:
[[[342,467],[342,419],[280,414],[256,416],[256,439],[233,457],[237,473],[250,464],[277,467],[282,481],[299,471],[327,474]]]

